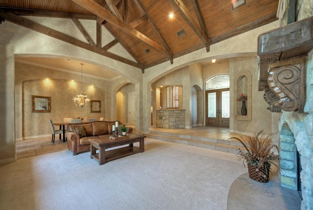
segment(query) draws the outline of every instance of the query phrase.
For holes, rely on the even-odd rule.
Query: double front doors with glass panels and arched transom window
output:
[[[205,82],[206,126],[229,127],[229,75]]]

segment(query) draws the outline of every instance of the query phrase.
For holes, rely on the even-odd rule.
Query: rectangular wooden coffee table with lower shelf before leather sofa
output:
[[[99,162],[99,165],[103,165],[108,161],[115,160],[117,158],[132,155],[138,152],[144,152],[144,139],[146,136],[138,134],[129,134],[128,136],[115,137],[110,139],[110,136],[101,138],[90,138],[90,158],[94,158]],[[134,143],[139,142],[139,147],[134,147]],[[106,151],[107,148],[118,147],[122,145],[129,145],[128,147],[121,147]],[[99,150],[96,153],[96,150]]]

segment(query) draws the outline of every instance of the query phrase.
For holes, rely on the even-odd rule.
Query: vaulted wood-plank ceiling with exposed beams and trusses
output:
[[[201,48],[208,52],[211,44],[277,20],[279,0],[246,0],[235,9],[232,1],[236,0],[0,0],[0,21],[22,25],[144,72]],[[30,21],[27,16],[71,19],[86,41]],[[96,40],[80,24],[83,19],[94,20]],[[101,27],[115,40],[101,43]],[[179,37],[181,30],[185,35]],[[134,61],[108,51],[117,43]]]

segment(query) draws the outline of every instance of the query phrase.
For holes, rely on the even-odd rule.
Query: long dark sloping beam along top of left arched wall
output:
[[[78,47],[81,47],[83,49],[89,50],[91,52],[94,52],[94,53],[106,56],[106,57],[111,58],[113,60],[116,60],[116,61],[119,61],[119,62],[122,62],[122,63],[126,63],[126,64],[132,65],[132,66],[140,68],[140,69],[142,69],[142,67],[143,67],[139,63],[135,63],[133,61],[130,61],[128,59],[125,59],[123,57],[115,55],[113,53],[107,52],[107,51],[105,51],[105,50],[103,50],[101,48],[98,48],[96,46],[92,46],[92,45],[90,45],[90,44],[88,44],[86,42],[82,42],[82,41],[77,40],[77,39],[75,39],[73,37],[70,37],[70,36],[68,36],[66,34],[63,34],[63,33],[59,32],[59,31],[56,31],[56,30],[53,30],[53,29],[48,28],[46,26],[40,25],[40,24],[38,24],[38,23],[36,23],[34,21],[30,21],[30,20],[24,19],[22,17],[16,16],[16,15],[14,15],[12,13],[6,13],[3,10],[0,10],[0,17],[2,19],[6,20],[6,21],[9,21],[9,22],[21,25],[21,26],[23,26],[25,28],[29,28],[29,29],[37,31],[39,33],[45,34],[45,35],[47,35],[49,37],[61,40],[63,42],[67,42],[67,43],[73,44],[75,46],[78,46]]]

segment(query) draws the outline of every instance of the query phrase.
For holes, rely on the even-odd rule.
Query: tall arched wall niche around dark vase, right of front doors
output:
[[[234,105],[234,113],[236,120],[251,120],[251,80],[252,75],[248,71],[241,71],[235,77],[234,81],[234,93],[235,93],[235,105]],[[246,96],[246,100],[237,101],[241,97],[241,95]],[[246,106],[246,115],[242,111],[243,104]]]

